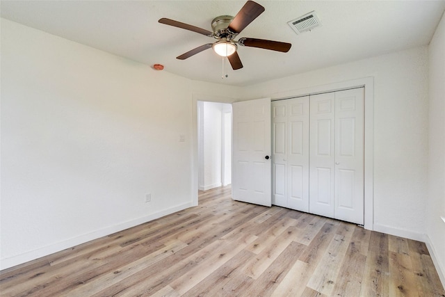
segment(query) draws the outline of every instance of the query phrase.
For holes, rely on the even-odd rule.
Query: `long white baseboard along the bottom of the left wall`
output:
[[[98,239],[100,237],[107,236],[109,234],[113,234],[115,232],[119,232],[143,223],[147,223],[150,220],[156,220],[156,218],[161,218],[162,216],[167,216],[168,214],[173,214],[177,211],[181,211],[183,209],[187,209],[192,206],[193,205],[191,202],[179,204],[175,207],[170,207],[168,209],[158,211],[154,214],[150,214],[149,216],[143,216],[141,218],[136,218],[134,220],[128,220],[126,222],[119,223],[118,225],[105,227],[104,229],[96,230],[94,232],[83,234],[81,236],[76,236],[72,239],[68,239],[66,241],[60,241],[58,243],[54,243],[49,246],[44,246],[43,248],[39,248],[37,250],[31,250],[29,252],[25,252],[20,255],[15,255],[13,257],[1,259],[0,270],[17,266],[19,264],[23,264],[26,262],[30,262],[40,257],[54,254],[54,252],[60,252],[61,250],[72,248],[73,246],[78,246],[79,244],[86,243],[88,241],[92,241],[94,239]]]

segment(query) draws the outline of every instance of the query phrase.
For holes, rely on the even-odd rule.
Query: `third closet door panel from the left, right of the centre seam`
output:
[[[334,93],[311,95],[309,212],[334,218]]]

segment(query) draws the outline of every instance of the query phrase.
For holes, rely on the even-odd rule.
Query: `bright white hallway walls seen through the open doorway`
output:
[[[232,104],[197,102],[198,190],[232,184]]]

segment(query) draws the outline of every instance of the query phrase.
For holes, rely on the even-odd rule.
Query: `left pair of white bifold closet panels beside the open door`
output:
[[[309,96],[272,103],[273,204],[309,211]]]

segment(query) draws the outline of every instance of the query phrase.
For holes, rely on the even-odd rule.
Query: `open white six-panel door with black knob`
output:
[[[269,206],[270,99],[232,104],[234,200]]]

